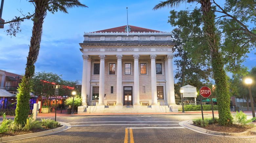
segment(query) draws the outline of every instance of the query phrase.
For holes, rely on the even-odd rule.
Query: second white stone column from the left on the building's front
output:
[[[104,103],[104,90],[105,90],[105,55],[99,55],[99,103],[98,105],[105,105]]]

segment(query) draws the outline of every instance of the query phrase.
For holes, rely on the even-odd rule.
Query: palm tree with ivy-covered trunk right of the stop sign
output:
[[[224,71],[224,63],[222,60],[222,54],[219,51],[220,37],[216,34],[217,28],[215,26],[215,16],[211,11],[211,0],[168,0],[160,2],[153,9],[157,10],[164,7],[178,7],[180,4],[188,3],[200,3],[201,10],[203,12],[203,29],[207,35],[208,46],[211,51],[211,66],[213,69],[213,77],[216,84],[217,102],[219,110],[219,124],[230,125],[232,124],[232,117],[229,112],[230,97],[228,94],[226,73]]]

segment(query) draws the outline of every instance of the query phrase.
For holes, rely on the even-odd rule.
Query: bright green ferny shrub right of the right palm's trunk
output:
[[[242,111],[240,112],[236,111],[236,114],[234,115],[234,118],[233,118],[233,123],[241,124],[242,126],[245,126],[246,124],[248,124],[249,122],[252,122],[255,119],[256,119],[255,117],[253,117],[252,119],[247,119],[247,115],[245,115],[245,113],[243,113]]]

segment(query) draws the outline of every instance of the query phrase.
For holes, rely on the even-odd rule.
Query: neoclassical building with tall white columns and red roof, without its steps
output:
[[[166,105],[178,112],[171,33],[129,25],[127,34],[127,26],[120,26],[84,33],[79,44],[83,54],[79,113],[88,112],[90,105],[98,109]]]

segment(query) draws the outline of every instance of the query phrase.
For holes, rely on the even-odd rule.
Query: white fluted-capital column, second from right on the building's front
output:
[[[157,57],[157,55],[150,55],[150,59],[151,59],[151,94],[152,94],[152,104],[151,105],[158,105],[158,103],[157,103],[156,57]]]

